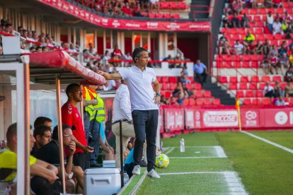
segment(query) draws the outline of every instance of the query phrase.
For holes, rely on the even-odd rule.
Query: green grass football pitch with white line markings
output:
[[[249,132],[293,150],[293,131]],[[144,179],[142,171],[122,194],[293,194],[293,153],[257,138],[197,132],[162,141],[170,164],[156,169],[161,179]]]

